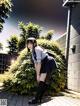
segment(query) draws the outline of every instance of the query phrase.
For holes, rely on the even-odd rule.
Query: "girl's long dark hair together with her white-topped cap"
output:
[[[30,38],[27,39],[27,45],[28,45],[28,43],[33,44],[33,56],[34,56],[34,59],[37,60],[37,59],[36,59],[36,52],[35,52],[35,47],[37,46],[37,41],[36,41],[36,39],[33,38],[33,37],[30,37]],[[27,47],[27,48],[28,48],[28,47]],[[29,48],[28,48],[28,51],[30,51]]]

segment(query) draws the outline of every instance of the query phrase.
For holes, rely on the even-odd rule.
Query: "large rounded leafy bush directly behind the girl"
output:
[[[54,41],[38,39],[38,44],[53,53],[57,62],[58,69],[53,71],[49,94],[60,92],[66,85],[66,61],[64,55]],[[18,94],[32,95],[35,93],[37,82],[33,64],[31,62],[31,53],[25,48],[20,52],[19,57],[14,64],[10,66],[9,72],[14,74],[13,79],[4,81],[4,89]]]

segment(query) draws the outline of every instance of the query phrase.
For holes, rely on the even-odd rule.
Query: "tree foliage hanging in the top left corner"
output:
[[[8,18],[11,9],[11,0],[0,0],[0,32],[3,29],[3,23],[5,23],[5,19]]]

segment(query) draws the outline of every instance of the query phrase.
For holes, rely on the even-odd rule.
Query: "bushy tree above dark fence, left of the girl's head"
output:
[[[8,40],[8,54],[17,55],[18,54],[18,37],[16,35],[12,35]]]

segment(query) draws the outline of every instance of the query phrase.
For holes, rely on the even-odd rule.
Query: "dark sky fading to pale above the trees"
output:
[[[6,51],[7,39],[20,34],[18,22],[33,22],[43,27],[43,33],[54,30],[58,38],[66,32],[67,9],[62,7],[63,0],[12,0],[13,8],[10,17],[5,21],[0,33],[0,42]]]

